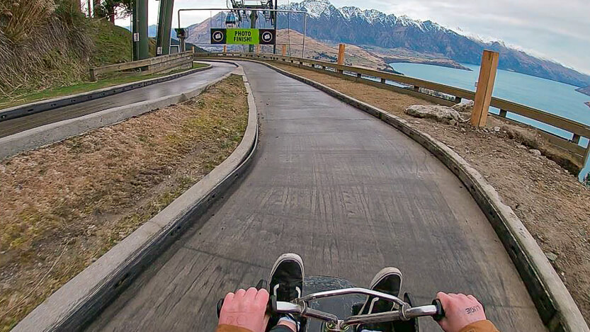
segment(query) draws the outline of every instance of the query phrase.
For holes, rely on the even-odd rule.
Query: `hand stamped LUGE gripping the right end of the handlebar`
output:
[[[436,298],[445,309],[445,318],[438,321],[445,332],[459,332],[469,324],[486,320],[484,307],[473,295],[438,292]]]

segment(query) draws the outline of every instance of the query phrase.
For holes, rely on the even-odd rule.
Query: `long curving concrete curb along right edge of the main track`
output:
[[[334,96],[355,108],[380,118],[428,149],[455,176],[460,178],[466,185],[467,190],[475,198],[477,204],[480,205],[484,214],[486,214],[487,219],[494,227],[518,273],[521,275],[535,303],[535,307],[537,307],[538,313],[549,331],[590,331],[582,313],[579,311],[574,299],[572,299],[572,295],[569,294],[533,236],[531,236],[511,207],[502,202],[497,190],[492,185],[489,185],[485,178],[475,168],[472,168],[462,156],[429,134],[412,127],[406,120],[387,113],[385,110],[358,101],[333,88],[292,74],[271,64],[250,59],[244,59],[244,61],[263,64],[280,74],[314,86],[330,96]]]

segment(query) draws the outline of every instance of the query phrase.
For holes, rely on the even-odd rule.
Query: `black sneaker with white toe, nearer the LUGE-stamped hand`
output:
[[[390,294],[395,297],[399,295],[399,290],[402,288],[402,273],[397,268],[383,268],[373,277],[369,288],[385,294]],[[368,296],[358,312],[359,315],[377,314],[379,312],[392,311],[393,302],[379,297]],[[390,322],[358,325],[356,331],[392,331],[392,324]]]

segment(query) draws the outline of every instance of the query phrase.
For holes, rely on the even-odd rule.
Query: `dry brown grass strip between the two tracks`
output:
[[[0,162],[0,331],[161,211],[242,140],[242,77]]]

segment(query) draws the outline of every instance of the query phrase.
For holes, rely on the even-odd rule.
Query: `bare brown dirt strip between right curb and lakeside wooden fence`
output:
[[[548,147],[535,130],[499,118],[488,118],[482,130],[468,122],[450,125],[413,118],[404,113],[407,106],[431,103],[308,69],[273,64],[405,118],[463,156],[526,225],[590,324],[590,189],[555,161],[538,155],[535,149],[543,154],[560,153]],[[494,127],[500,130],[496,132]],[[561,161],[565,155],[553,159]]]

